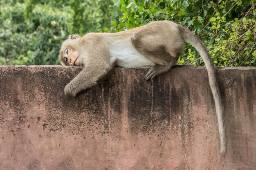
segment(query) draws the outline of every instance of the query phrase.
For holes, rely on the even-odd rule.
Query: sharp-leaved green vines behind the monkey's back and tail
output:
[[[256,66],[256,11],[251,0],[121,0],[115,30],[172,20],[200,37],[216,66]],[[178,64],[204,65],[188,44]]]

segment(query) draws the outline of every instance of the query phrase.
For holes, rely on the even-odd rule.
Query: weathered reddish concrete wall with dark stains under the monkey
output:
[[[225,157],[205,68],[148,82],[147,70],[115,68],[69,101],[79,71],[0,66],[0,170],[256,169],[256,68],[218,69]]]

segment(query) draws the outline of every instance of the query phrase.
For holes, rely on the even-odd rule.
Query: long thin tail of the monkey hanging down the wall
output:
[[[211,92],[213,94],[213,99],[215,102],[216,113],[217,113],[220,145],[221,145],[220,153],[224,155],[226,152],[225,125],[223,120],[224,108],[221,102],[221,94],[220,94],[220,88],[218,86],[216,70],[213,66],[213,62],[211,60],[209,52],[204,46],[204,44],[202,43],[202,41],[196,35],[194,35],[191,31],[189,31],[189,29],[186,29],[184,26],[178,25],[178,29],[180,30],[182,38],[185,41],[191,43],[195,47],[195,49],[200,53],[200,55],[204,60],[204,64],[206,66],[208,77],[209,77]]]

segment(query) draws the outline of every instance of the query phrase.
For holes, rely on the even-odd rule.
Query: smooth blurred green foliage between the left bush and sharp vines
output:
[[[108,31],[118,16],[118,0],[73,0],[74,11],[71,33]]]

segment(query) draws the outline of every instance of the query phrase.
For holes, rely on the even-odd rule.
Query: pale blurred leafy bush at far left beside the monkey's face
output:
[[[58,51],[70,32],[71,9],[13,4],[0,6],[0,64],[58,64]]]

